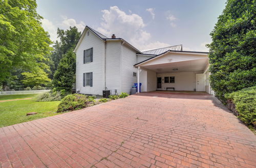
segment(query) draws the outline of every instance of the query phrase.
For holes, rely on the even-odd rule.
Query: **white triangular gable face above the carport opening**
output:
[[[166,64],[166,63],[189,61],[189,60],[199,60],[199,59],[206,59],[206,58],[207,58],[207,55],[167,53],[162,57],[152,59],[152,61],[148,61],[147,63],[144,63],[143,66],[155,65],[155,64]]]

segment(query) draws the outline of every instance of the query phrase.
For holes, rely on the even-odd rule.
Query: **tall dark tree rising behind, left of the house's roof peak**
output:
[[[53,73],[58,67],[60,60],[62,59],[63,55],[66,54],[70,49],[74,49],[80,36],[81,32],[78,32],[76,26],[71,27],[70,30],[61,30],[58,28],[57,35],[60,41],[56,41],[53,45],[53,52],[52,52],[52,60],[54,62],[54,67],[52,68]]]

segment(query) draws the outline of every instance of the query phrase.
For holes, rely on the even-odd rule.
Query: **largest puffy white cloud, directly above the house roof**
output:
[[[151,41],[151,34],[143,29],[146,25],[139,15],[126,14],[117,6],[110,7],[109,10],[102,10],[102,13],[101,26],[97,28],[97,31],[103,35],[111,37],[112,34],[115,34],[117,38],[121,37],[129,41],[138,49],[157,48],[164,44]]]

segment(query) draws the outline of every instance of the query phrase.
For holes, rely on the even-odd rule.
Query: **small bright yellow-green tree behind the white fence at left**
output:
[[[51,79],[48,78],[48,74],[42,70],[41,68],[37,68],[37,70],[33,70],[31,72],[23,72],[22,75],[24,79],[22,82],[26,86],[39,88],[41,85],[46,85]]]

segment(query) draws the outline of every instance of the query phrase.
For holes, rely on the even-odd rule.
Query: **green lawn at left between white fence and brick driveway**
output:
[[[34,98],[35,96],[37,94],[6,95],[0,96],[0,100]],[[34,99],[0,102],[0,127],[57,115],[56,110],[59,102],[35,102]],[[36,112],[37,114],[26,116],[30,112]]]

